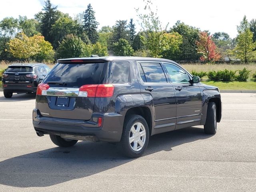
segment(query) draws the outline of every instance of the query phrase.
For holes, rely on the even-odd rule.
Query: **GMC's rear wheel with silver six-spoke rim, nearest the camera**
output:
[[[148,146],[149,129],[146,120],[140,115],[126,118],[120,141],[124,155],[136,158],[141,156]]]

